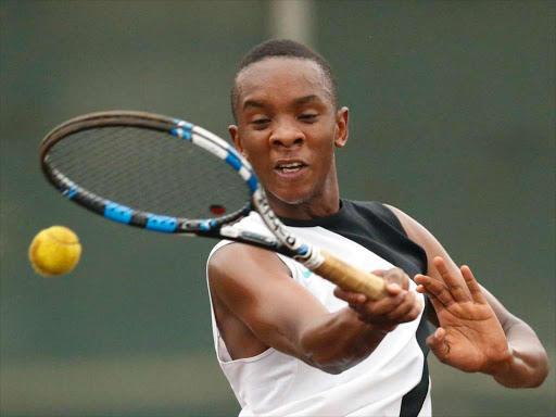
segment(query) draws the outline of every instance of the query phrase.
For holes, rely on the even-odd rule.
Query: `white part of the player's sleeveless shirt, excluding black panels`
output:
[[[255,213],[242,219],[240,225],[270,235]],[[361,244],[323,227],[289,229],[364,270],[393,267]],[[211,255],[227,243],[230,242],[219,242]],[[291,258],[278,256],[290,268],[293,280],[306,288],[329,312],[346,306],[333,295],[331,282]],[[410,286],[415,288],[413,281]],[[416,339],[421,315],[412,323],[397,326],[358,365],[340,375],[330,375],[271,348],[255,357],[232,361],[212,309],[218,363],[242,407],[240,416],[400,416],[404,395],[422,377],[425,356]],[[429,383],[419,416],[430,414]]]

